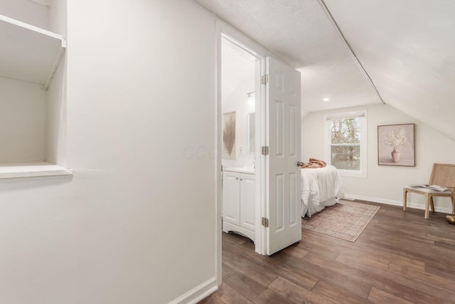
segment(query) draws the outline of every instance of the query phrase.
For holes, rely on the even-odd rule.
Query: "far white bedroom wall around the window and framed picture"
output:
[[[302,118],[302,158],[324,159],[324,115],[350,110],[368,111],[368,178],[341,177],[346,196],[402,206],[402,189],[407,184],[429,181],[434,162],[455,163],[455,142],[388,105],[370,105],[324,112],[313,112]],[[378,165],[378,125],[415,123],[416,167]],[[325,159],[326,160],[326,159]],[[424,208],[424,197],[411,194],[410,206]],[[441,201],[442,200],[442,201]],[[450,211],[447,198],[438,198],[436,208]]]

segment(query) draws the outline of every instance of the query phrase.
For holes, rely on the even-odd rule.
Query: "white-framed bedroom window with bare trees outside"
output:
[[[366,177],[366,111],[327,115],[329,164],[340,175]]]

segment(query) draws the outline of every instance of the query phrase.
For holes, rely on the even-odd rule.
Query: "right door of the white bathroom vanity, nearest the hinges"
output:
[[[240,226],[255,231],[255,174],[240,173]]]

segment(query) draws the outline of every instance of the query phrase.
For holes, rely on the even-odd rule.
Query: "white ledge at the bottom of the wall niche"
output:
[[[73,172],[47,162],[0,164],[0,182],[33,177],[68,177]]]

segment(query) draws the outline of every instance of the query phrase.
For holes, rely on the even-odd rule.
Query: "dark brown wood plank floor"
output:
[[[304,230],[261,256],[223,233],[223,284],[200,303],[455,303],[455,225],[378,205],[355,243]]]

